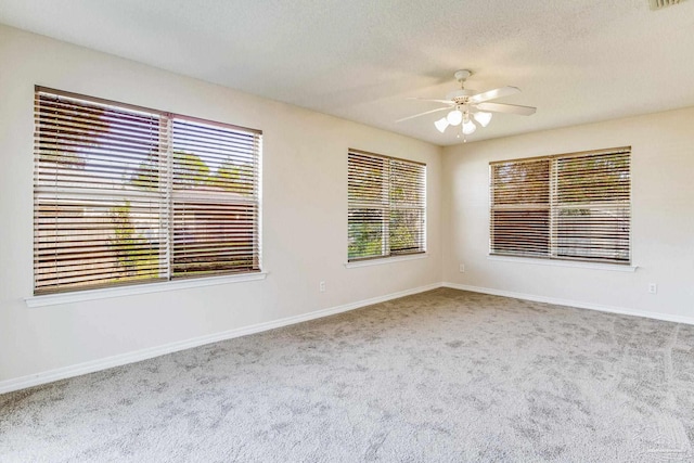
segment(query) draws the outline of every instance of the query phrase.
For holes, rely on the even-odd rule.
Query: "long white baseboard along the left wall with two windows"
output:
[[[233,330],[223,331],[221,333],[198,336],[187,340],[169,343],[162,346],[149,347],[132,352],[121,353],[117,356],[106,357],[103,359],[91,360],[75,365],[64,366],[60,369],[49,370],[46,372],[35,373],[17,378],[0,381],[0,394],[12,393],[14,390],[26,389],[27,387],[39,386],[41,384],[52,383],[59,380],[80,376],[87,373],[93,373],[114,366],[125,365],[127,363],[140,362],[142,360],[152,359],[154,357],[164,356],[166,353],[177,352],[193,347],[203,346],[205,344],[217,343],[220,340],[232,339],[234,337],[246,336],[249,334],[260,333],[264,331],[274,330],[277,327],[287,326],[296,323],[316,320],[323,317],[334,316],[342,312],[359,309],[361,307],[371,306],[373,304],[385,303],[386,300],[397,299],[399,297],[410,296],[425,291],[441,287],[441,283],[433,283],[412,290],[400,291],[398,293],[386,294],[384,296],[372,297],[370,299],[359,300],[357,303],[345,304],[343,306],[330,307],[327,309],[316,310],[300,316],[286,317],[264,323],[257,323],[250,326],[244,326]]]

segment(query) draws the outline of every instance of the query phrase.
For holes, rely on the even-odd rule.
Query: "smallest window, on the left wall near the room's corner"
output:
[[[425,252],[426,165],[350,150],[349,261]]]

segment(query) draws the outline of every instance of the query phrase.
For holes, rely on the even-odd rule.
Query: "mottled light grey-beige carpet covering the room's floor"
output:
[[[694,461],[694,326],[436,290],[0,396],[1,462]]]

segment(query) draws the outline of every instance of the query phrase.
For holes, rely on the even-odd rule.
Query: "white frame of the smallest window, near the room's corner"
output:
[[[370,158],[377,163],[383,164],[383,169],[381,171],[381,195],[377,200],[369,198],[354,198],[356,195],[356,189],[352,190],[350,181],[355,180],[352,159],[356,157]],[[416,178],[415,181],[411,183],[414,185],[415,190],[409,191],[410,194],[413,194],[417,197],[419,201],[407,202],[407,201],[397,201],[394,200],[394,171],[398,170],[394,165],[402,164],[411,169],[421,169],[414,173]],[[357,164],[357,163],[356,163]],[[400,168],[402,169],[402,167]],[[361,176],[359,176],[361,178]],[[375,176],[373,177],[375,179]],[[348,267],[361,267],[361,265],[367,265],[368,262],[376,262],[387,260],[409,260],[409,258],[416,258],[421,255],[426,255],[426,224],[427,224],[427,202],[426,202],[426,164],[403,159],[399,157],[386,156],[382,154],[371,153],[368,151],[349,149],[347,152],[347,266]],[[350,257],[349,246],[350,246],[350,216],[352,211],[356,210],[371,210],[378,211],[381,214],[381,254],[378,255],[368,255],[368,256],[356,256]],[[391,215],[394,213],[402,213],[407,210],[416,211],[420,215],[420,227],[413,228],[416,232],[416,248],[415,250],[397,250],[393,247],[393,237],[390,230],[390,221]],[[360,265],[361,263],[361,265]]]

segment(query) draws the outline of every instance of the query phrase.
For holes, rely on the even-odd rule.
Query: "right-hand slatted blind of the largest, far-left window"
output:
[[[259,270],[258,138],[175,118],[174,276]]]

